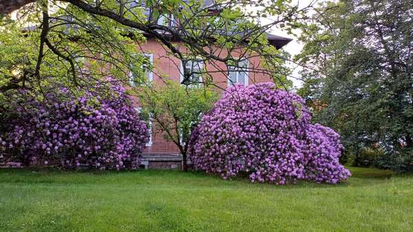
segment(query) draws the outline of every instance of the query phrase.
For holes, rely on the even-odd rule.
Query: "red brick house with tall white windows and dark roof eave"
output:
[[[212,0],[206,0],[205,5],[211,4]],[[145,6],[141,6],[145,7]],[[149,15],[149,9],[147,9],[147,14]],[[173,27],[176,23],[179,23],[173,19],[173,16],[160,16],[158,18],[158,23],[162,25],[167,25]],[[165,34],[165,36],[168,36]],[[291,39],[277,36],[275,34],[266,33],[268,42],[275,48],[280,49]],[[173,41],[173,38],[169,38]],[[180,41],[176,40],[173,43],[179,44]],[[147,42],[139,44],[137,46],[138,50],[147,56],[147,60],[151,63],[153,70],[147,70],[146,75],[149,81],[153,85],[162,85],[162,78],[169,79],[172,81],[182,82],[183,72],[185,67],[182,67],[182,62],[175,56],[169,55],[168,51],[162,46],[161,43],[156,41],[156,39],[147,36]],[[235,52],[236,53],[236,52]],[[240,51],[240,54],[242,51]],[[234,57],[240,57],[240,54],[232,54]],[[226,56],[225,53],[220,53],[220,56]],[[244,85],[251,85],[253,83],[261,83],[271,81],[270,76],[262,72],[253,72],[253,70],[262,69],[260,65],[259,56],[245,57],[244,60],[239,63],[239,67],[248,67],[248,70],[242,70],[239,67],[227,66],[225,63],[202,63],[201,61],[189,61],[187,66],[189,68],[204,68],[207,72],[211,71],[211,77],[213,78],[213,83],[218,85],[220,89],[226,89],[233,85],[233,83],[242,83]],[[224,72],[216,72],[217,70],[224,70]],[[191,78],[202,78],[201,76],[191,76]],[[131,83],[133,84],[133,83]],[[138,105],[138,104],[137,104]],[[139,107],[137,107],[138,109]],[[149,122],[151,125],[151,122]],[[151,126],[152,127],[152,126]],[[164,136],[157,131],[152,131],[149,143],[145,147],[142,158],[142,166],[145,168],[158,168],[158,169],[174,169],[180,168],[182,165],[182,156],[178,147],[171,141],[165,140]]]

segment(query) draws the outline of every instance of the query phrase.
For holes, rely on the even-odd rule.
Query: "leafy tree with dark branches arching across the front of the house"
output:
[[[129,69],[143,81],[144,58],[131,54],[140,52],[136,45],[147,37],[181,60],[193,56],[204,63],[236,65],[244,56],[260,56],[265,68],[251,71],[265,72],[286,85],[284,56],[268,43],[265,31],[293,25],[308,8],[299,9],[288,0],[206,2],[0,0],[0,94],[17,88],[41,92],[56,82],[81,94],[102,82],[102,76],[127,83]],[[13,10],[18,10],[17,20],[8,15]],[[274,20],[257,23],[266,16]],[[160,19],[180,23],[166,25]]]

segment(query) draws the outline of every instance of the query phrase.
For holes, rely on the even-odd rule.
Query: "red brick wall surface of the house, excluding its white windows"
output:
[[[174,56],[167,54],[165,48],[162,47],[160,43],[157,43],[153,39],[148,39],[147,43],[140,44],[138,50],[141,50],[142,53],[153,54],[153,84],[162,85],[162,78],[168,78],[173,81],[180,81],[180,60]],[[217,48],[215,54],[224,57],[226,53]],[[237,52],[233,53],[233,56],[240,56]],[[254,67],[257,69],[262,69],[260,67],[260,57],[252,55],[248,58],[249,65],[248,67]],[[213,83],[218,85],[220,88],[225,89],[228,87],[228,79],[226,78],[226,64],[222,62],[206,63],[205,67],[213,78]],[[248,84],[260,82],[271,81],[271,78],[261,72],[249,72],[248,73]],[[153,125],[156,127],[156,125]],[[152,133],[152,145],[146,147],[144,153],[151,154],[171,154],[179,153],[178,147],[170,141],[165,140],[164,136],[160,134],[156,129]]]

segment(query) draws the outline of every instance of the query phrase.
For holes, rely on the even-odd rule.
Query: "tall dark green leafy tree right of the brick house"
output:
[[[326,2],[303,24],[299,93],[322,105],[315,120],[343,136],[355,164],[377,147],[382,167],[413,169],[412,12],[408,0]]]

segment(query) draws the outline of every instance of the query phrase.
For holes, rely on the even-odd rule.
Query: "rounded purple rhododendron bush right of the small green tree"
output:
[[[310,124],[304,100],[273,83],[226,90],[193,132],[193,167],[252,182],[337,183],[350,171],[339,164],[342,145],[328,127]]]

